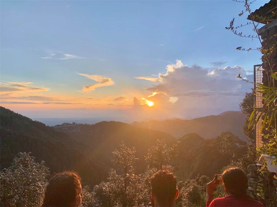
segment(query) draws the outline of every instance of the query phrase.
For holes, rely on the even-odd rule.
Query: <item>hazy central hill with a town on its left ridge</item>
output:
[[[54,127],[57,131],[66,132],[74,140],[90,146],[94,156],[112,167],[110,157],[112,151],[118,148],[122,141],[128,147],[136,149],[135,161],[137,173],[143,173],[146,168],[144,156],[147,150],[155,144],[156,140],[165,140],[167,144],[173,144],[176,139],[165,132],[134,127],[129,124],[116,121],[102,121],[94,125],[64,124]]]

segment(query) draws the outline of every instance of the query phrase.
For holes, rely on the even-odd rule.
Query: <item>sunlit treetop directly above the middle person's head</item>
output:
[[[172,147],[168,147],[165,140],[156,140],[156,144],[148,149],[145,161],[148,163],[148,168],[162,170],[176,155],[176,144],[173,144]]]

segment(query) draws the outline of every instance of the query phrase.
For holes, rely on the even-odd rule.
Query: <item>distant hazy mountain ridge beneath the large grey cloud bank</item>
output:
[[[241,112],[228,111],[217,116],[207,116],[191,120],[164,120],[164,121],[134,121],[131,125],[141,128],[150,128],[171,134],[175,138],[187,133],[197,133],[205,139],[219,136],[221,132],[232,132],[241,140],[247,141],[242,133],[245,115]]]

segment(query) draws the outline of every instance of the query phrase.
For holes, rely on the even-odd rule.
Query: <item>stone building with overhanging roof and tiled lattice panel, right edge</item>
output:
[[[271,71],[277,71],[277,1],[271,0],[264,6],[252,12],[247,19],[255,22],[265,24],[259,29],[259,35],[262,41],[262,65],[254,66],[254,82],[262,83],[266,86],[275,86],[277,82],[273,83],[271,78]],[[256,85],[255,85],[256,86]],[[255,107],[262,108],[262,94],[256,93]],[[262,120],[257,123],[255,127],[255,148],[259,147],[264,139],[263,133],[260,132]],[[266,131],[264,133],[267,133]]]

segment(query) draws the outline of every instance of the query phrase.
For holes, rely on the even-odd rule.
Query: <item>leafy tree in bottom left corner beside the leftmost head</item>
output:
[[[43,161],[20,152],[0,174],[1,206],[41,206],[48,174]]]

